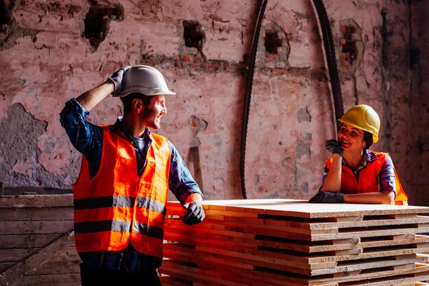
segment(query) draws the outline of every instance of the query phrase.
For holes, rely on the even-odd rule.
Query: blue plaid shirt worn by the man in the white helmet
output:
[[[60,122],[69,135],[73,146],[88,160],[90,178],[93,178],[101,163],[103,129],[86,121],[88,115],[90,112],[85,110],[76,99],[70,99],[60,113]],[[141,175],[146,165],[147,149],[151,142],[149,128],[145,130],[143,140],[134,139],[130,135],[123,125],[121,117],[114,123],[114,128],[117,134],[133,143],[138,162],[137,171]],[[136,142],[137,140],[140,142]],[[202,193],[188,167],[186,167],[182,156],[170,141],[169,144],[171,149],[169,189],[177,200],[184,204],[186,198],[192,193],[199,193],[201,196]],[[161,258],[137,252],[131,243],[121,251],[81,252],[79,256],[86,263],[124,272],[149,272],[160,267],[162,262]]]

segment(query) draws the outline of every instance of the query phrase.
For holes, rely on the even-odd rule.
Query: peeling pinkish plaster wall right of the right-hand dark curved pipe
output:
[[[354,104],[373,106],[381,128],[380,141],[372,149],[391,154],[410,204],[429,205],[428,1],[326,5],[334,41],[339,42],[343,19],[356,22],[363,40],[358,67],[344,67],[337,58],[345,110]]]

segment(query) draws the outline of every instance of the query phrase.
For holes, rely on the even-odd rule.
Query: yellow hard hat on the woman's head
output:
[[[373,143],[378,141],[380,117],[371,106],[365,104],[353,106],[344,113],[339,121],[371,133]]]

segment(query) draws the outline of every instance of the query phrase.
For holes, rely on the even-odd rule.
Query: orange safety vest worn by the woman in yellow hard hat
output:
[[[360,169],[359,182],[356,182],[356,177],[352,169],[346,166],[341,166],[341,193],[372,193],[380,191],[380,182],[378,180],[378,175],[386,160],[386,156],[390,156],[388,153],[374,152],[377,158],[373,161],[367,161],[367,165]],[[326,167],[330,169],[332,163],[332,158],[326,160]],[[395,172],[395,189],[396,197],[395,204],[404,204],[408,205],[408,197],[402,189],[399,178],[397,177],[396,170],[393,167]]]

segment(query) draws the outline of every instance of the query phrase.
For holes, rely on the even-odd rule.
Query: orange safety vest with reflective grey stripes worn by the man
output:
[[[82,158],[73,184],[77,252],[117,251],[131,242],[138,252],[162,257],[171,150],[164,136],[151,133],[147,163],[138,178],[132,144],[103,128],[101,165],[89,178]]]

